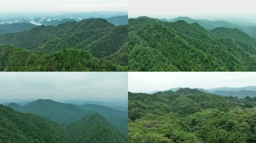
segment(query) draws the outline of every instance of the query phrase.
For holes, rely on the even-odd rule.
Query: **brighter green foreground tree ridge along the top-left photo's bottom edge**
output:
[[[64,49],[55,53],[0,45],[0,71],[127,71],[127,66],[97,59],[88,51]]]

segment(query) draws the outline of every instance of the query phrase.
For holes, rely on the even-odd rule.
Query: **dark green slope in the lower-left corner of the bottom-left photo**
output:
[[[70,143],[59,124],[36,114],[20,113],[0,105],[0,143]]]

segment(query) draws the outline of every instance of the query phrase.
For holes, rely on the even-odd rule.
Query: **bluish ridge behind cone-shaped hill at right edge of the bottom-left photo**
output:
[[[95,111],[105,117],[108,121],[116,125],[120,130],[122,130],[125,134],[128,131],[128,113],[116,109],[107,108],[100,105],[94,104],[84,104],[84,105],[74,105],[79,107],[85,111]]]

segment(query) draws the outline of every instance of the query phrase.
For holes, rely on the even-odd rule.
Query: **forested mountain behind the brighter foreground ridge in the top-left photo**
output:
[[[85,19],[58,26],[42,25],[25,32],[6,34],[0,36],[0,43],[27,50],[84,49],[100,58],[118,51],[127,42],[127,32],[127,26],[114,26],[104,19]]]

